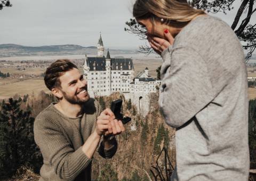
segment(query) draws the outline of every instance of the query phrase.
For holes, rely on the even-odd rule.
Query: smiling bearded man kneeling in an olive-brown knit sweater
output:
[[[39,181],[91,180],[95,150],[98,147],[103,158],[113,157],[114,135],[124,131],[122,121],[114,119],[109,109],[101,112],[87,93],[83,75],[69,60],[52,63],[44,81],[59,102],[50,104],[35,120],[35,142],[44,159]]]

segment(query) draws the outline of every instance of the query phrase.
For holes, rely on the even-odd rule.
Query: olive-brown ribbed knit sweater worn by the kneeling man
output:
[[[91,180],[91,159],[82,151],[82,145],[95,128],[100,105],[90,98],[83,106],[83,114],[69,118],[59,112],[55,103],[38,114],[34,123],[35,142],[43,155],[39,181]],[[105,149],[102,142],[98,148],[103,158],[116,153],[117,142]]]

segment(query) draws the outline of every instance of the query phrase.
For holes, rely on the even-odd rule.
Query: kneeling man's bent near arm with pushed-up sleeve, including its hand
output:
[[[54,168],[61,179],[74,180],[91,162],[101,135],[108,129],[109,120],[98,120],[93,133],[76,151],[61,131],[61,126],[50,119],[36,119],[35,142],[44,161]]]

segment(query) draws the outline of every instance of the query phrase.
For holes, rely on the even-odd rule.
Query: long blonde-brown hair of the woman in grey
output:
[[[191,7],[186,0],[137,0],[133,5],[135,19],[164,19],[166,24],[184,24],[197,15],[205,14],[203,10]]]

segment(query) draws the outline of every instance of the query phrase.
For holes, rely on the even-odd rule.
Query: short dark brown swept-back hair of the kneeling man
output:
[[[59,77],[73,68],[77,69],[76,65],[68,59],[61,59],[52,63],[45,71],[44,83],[46,87],[50,91],[52,91],[52,88],[61,88]]]

